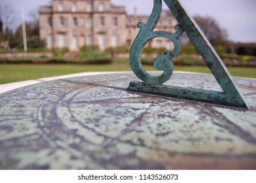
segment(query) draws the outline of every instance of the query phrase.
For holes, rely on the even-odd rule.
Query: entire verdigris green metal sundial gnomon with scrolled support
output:
[[[177,97],[179,99],[189,99],[206,103],[214,103],[218,105],[228,105],[231,107],[247,108],[241,93],[236,88],[229,71],[215,52],[210,42],[191,16],[181,6],[178,0],[164,0],[166,5],[174,14],[179,25],[175,26],[175,33],[166,31],[153,31],[160,18],[162,11],[162,0],[154,0],[153,12],[146,24],[139,22],[137,25],[141,28],[137,35],[131,51],[130,65],[134,74],[143,82],[132,81],[127,90],[142,93],[151,93],[156,95],[164,95],[168,97]],[[196,46],[206,65],[211,70],[215,79],[221,86],[223,91],[200,90],[193,88],[182,88],[176,86],[162,85],[169,80],[174,71],[174,63],[172,58],[178,56],[181,50],[178,37],[185,31],[191,39],[191,42]],[[166,50],[164,54],[158,56],[154,60],[154,66],[159,71],[164,71],[162,75],[149,75],[141,64],[141,52],[147,42],[156,37],[169,39],[174,43],[174,51]]]

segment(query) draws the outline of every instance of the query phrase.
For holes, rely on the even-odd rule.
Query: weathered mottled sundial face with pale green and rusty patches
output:
[[[256,169],[256,80],[234,78],[249,110],[127,92],[132,73],[83,76],[0,95],[0,169]],[[211,75],[168,85],[221,90]]]

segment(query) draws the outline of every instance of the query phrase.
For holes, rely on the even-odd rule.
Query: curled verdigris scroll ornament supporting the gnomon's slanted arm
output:
[[[170,79],[174,71],[172,58],[178,56],[181,51],[181,44],[177,39],[182,35],[183,29],[180,25],[175,26],[175,33],[167,31],[153,31],[158,23],[162,11],[162,0],[154,0],[154,8],[147,24],[139,22],[140,31],[132,44],[130,51],[130,65],[134,74],[146,84],[163,84]],[[166,38],[174,43],[174,51],[166,50],[164,54],[154,60],[154,67],[159,71],[164,71],[160,76],[152,76],[145,71],[141,64],[141,52],[147,42],[156,37]]]

